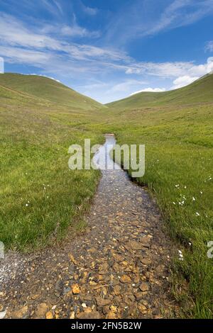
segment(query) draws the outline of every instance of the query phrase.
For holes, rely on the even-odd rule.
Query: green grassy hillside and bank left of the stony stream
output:
[[[87,137],[103,140],[82,128],[100,106],[44,77],[0,74],[0,239],[6,247],[38,247],[81,225],[99,172],[70,171],[67,151]]]

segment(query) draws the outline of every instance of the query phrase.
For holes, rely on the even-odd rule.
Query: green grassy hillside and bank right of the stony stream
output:
[[[119,144],[146,145],[146,173],[138,183],[148,185],[183,254],[183,261],[177,253],[173,262],[173,290],[188,314],[203,318],[213,317],[213,259],[207,256],[213,239],[212,82],[209,75],[177,91],[127,98],[122,107],[112,103],[109,126]],[[164,102],[138,106],[148,95]]]

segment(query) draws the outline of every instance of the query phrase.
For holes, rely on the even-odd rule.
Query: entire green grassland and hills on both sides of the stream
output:
[[[182,89],[107,106],[58,82],[0,75],[0,239],[26,251],[80,230],[99,171],[70,171],[68,147],[84,138],[146,145],[146,184],[177,244],[173,293],[184,316],[213,317],[213,74]],[[129,170],[131,174],[131,170]],[[182,259],[178,254],[182,251]]]

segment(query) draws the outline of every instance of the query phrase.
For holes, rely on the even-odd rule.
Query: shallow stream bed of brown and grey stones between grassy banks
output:
[[[0,311],[8,318],[174,317],[172,246],[146,190],[121,169],[102,171],[86,219],[86,232],[60,249],[18,257],[15,266],[9,254],[0,266],[11,274],[1,276]]]

